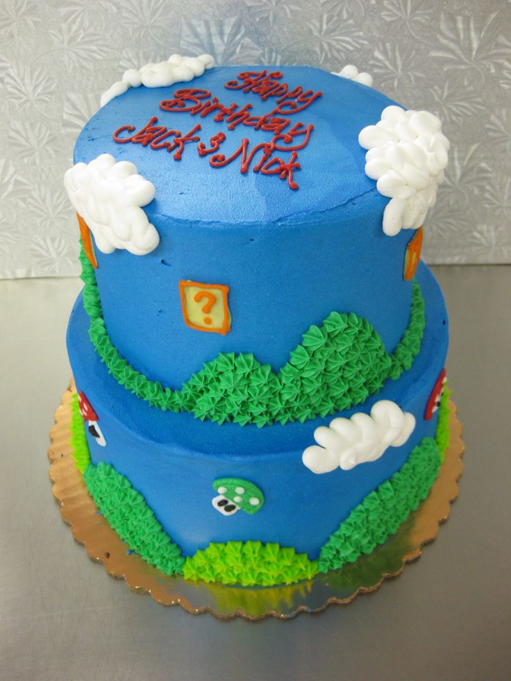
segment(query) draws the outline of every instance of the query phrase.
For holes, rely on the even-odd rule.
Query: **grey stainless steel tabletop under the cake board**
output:
[[[511,676],[511,267],[435,267],[465,472],[422,557],[351,605],[221,622],[132,593],[72,539],[46,451],[70,378],[74,278],[0,282],[0,678],[502,679]]]

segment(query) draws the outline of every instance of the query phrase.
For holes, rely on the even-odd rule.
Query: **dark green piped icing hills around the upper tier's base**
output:
[[[117,382],[162,410],[192,412],[202,420],[233,421],[241,426],[303,423],[362,404],[387,378],[395,380],[410,369],[421,347],[424,300],[414,282],[408,328],[390,355],[366,319],[352,312],[331,312],[321,326],[310,326],[277,373],[252,354],[221,353],[180,390],[173,390],[149,380],[119,355],[106,331],[96,276],[83,247],[80,260],[83,305],[90,317],[94,348]]]

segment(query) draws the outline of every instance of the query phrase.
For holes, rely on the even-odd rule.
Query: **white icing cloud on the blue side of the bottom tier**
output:
[[[302,461],[312,473],[330,473],[337,466],[349,471],[358,464],[376,461],[387,447],[399,447],[415,428],[413,414],[395,402],[376,402],[371,415],[358,412],[351,419],[333,419],[330,426],[314,431],[317,445],[305,449]]]

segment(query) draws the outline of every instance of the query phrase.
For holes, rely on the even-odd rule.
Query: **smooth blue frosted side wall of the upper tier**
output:
[[[410,317],[412,286],[403,264],[412,235],[386,237],[381,221],[382,209],[364,197],[344,217],[296,226],[230,230],[167,222],[160,246],[143,258],[97,253],[108,334],[138,371],[174,389],[219,353],[253,353],[278,371],[330,312],[367,319],[391,353]],[[188,280],[206,291],[228,287],[228,333],[187,324],[180,283]],[[207,310],[202,317],[208,319]]]

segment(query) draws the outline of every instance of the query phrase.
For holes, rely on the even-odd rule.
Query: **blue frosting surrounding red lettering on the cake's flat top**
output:
[[[74,162],[90,162],[100,153],[111,153],[116,160],[133,162],[140,174],[156,187],[156,197],[146,207],[149,219],[171,217],[185,222],[201,222],[207,226],[240,226],[247,223],[268,224],[283,222],[296,224],[314,219],[315,213],[342,208],[346,203],[368,192],[374,201],[385,207],[387,200],[376,191],[376,183],[364,172],[365,151],[358,144],[358,133],[380,119],[382,110],[394,102],[365,85],[311,67],[282,67],[282,82],[290,87],[322,92],[308,108],[289,116],[290,126],[296,122],[312,124],[310,142],[298,151],[301,170],[294,178],[299,190],[290,190],[278,176],[240,173],[240,160],[221,168],[212,168],[209,158],[201,157],[196,143],[185,145],[183,158],[173,159],[165,149],[154,150],[142,144],[118,144],[112,134],[125,125],[140,130],[151,117],[158,117],[156,125],[179,130],[183,135],[196,124],[196,133],[206,146],[212,135],[226,134],[221,153],[231,155],[243,137],[249,137],[252,148],[269,142],[274,133],[238,125],[228,130],[226,122],[215,121],[216,111],[206,117],[176,113],[160,109],[160,102],[171,99],[176,90],[185,87],[208,90],[221,103],[235,102],[241,108],[251,104],[253,116],[261,116],[276,106],[273,98],[262,101],[258,94],[242,90],[228,90],[225,83],[246,71],[263,67],[215,67],[190,83],[176,83],[170,87],[139,87],[115,97],[83,128],[74,150]],[[270,71],[271,69],[267,69]],[[124,132],[120,137],[129,137]],[[296,137],[302,141],[303,137]],[[284,158],[284,155],[283,155]],[[254,164],[253,164],[254,165]],[[171,225],[167,231],[171,232]]]

